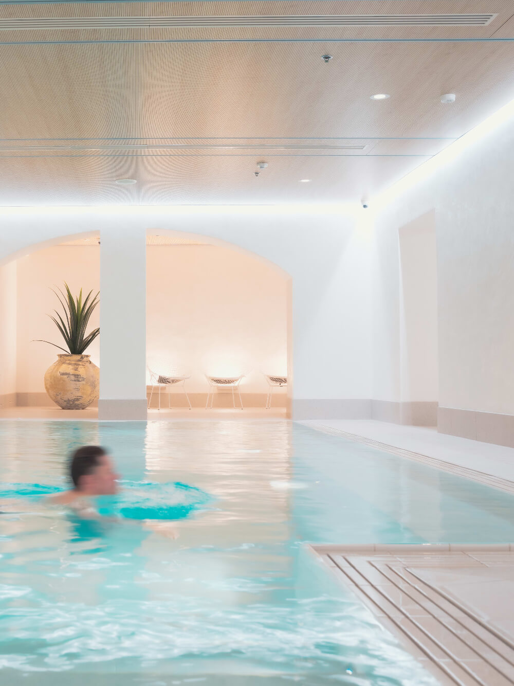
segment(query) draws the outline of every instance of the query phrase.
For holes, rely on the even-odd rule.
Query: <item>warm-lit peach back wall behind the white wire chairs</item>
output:
[[[213,245],[148,246],[147,362],[182,368],[190,392],[205,374],[238,376],[265,393],[263,373],[287,375],[286,276],[247,253]]]

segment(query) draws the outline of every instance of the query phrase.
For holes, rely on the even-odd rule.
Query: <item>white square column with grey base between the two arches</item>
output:
[[[146,419],[146,233],[101,230],[99,419]]]

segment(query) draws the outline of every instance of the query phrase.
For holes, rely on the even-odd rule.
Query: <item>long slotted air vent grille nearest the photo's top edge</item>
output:
[[[334,16],[89,16],[0,19],[0,30],[297,26],[487,26],[496,14],[341,14]]]

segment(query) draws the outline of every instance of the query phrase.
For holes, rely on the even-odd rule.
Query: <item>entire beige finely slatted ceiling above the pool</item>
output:
[[[482,42],[514,29],[509,1],[344,14],[378,19],[336,24],[336,1],[0,5],[0,204],[358,200],[514,95],[514,43]],[[421,14],[495,16],[388,25]]]

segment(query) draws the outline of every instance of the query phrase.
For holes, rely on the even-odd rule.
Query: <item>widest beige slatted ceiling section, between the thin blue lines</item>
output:
[[[454,138],[514,93],[509,43],[0,46],[2,139]],[[390,93],[374,102],[372,93]],[[455,92],[444,106],[441,93]]]

